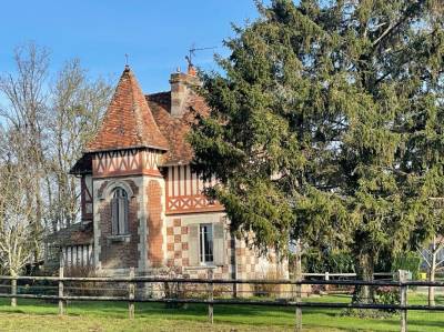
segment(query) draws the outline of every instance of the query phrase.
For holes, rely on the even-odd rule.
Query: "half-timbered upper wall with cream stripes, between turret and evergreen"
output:
[[[211,202],[202,193],[214,185],[215,179],[204,182],[191,172],[190,165],[172,165],[165,177],[167,214],[222,211],[219,202]]]

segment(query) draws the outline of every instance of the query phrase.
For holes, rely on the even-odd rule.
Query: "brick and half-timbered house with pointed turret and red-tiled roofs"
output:
[[[81,222],[53,235],[67,266],[109,275],[157,274],[256,279],[287,275],[285,260],[259,256],[230,232],[223,207],[208,200],[190,168],[186,133],[209,108],[192,89],[194,68],[175,72],[171,91],[143,94],[125,67],[97,135],[71,173],[80,178]]]

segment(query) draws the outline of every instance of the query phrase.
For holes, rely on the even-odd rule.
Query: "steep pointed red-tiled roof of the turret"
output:
[[[127,67],[103,122],[85,152],[128,148],[167,150],[169,142],[159,130],[134,74]]]

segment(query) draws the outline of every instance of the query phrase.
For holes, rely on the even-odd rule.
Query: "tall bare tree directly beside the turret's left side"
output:
[[[89,81],[80,61],[67,62],[51,84],[47,118],[47,197],[52,229],[69,227],[79,214],[79,181],[69,175],[95,132],[111,97],[103,79]]]

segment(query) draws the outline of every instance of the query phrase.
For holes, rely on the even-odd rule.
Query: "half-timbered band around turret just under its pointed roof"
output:
[[[132,174],[160,177],[158,163],[161,154],[152,149],[98,152],[92,161],[92,173],[94,178]]]

